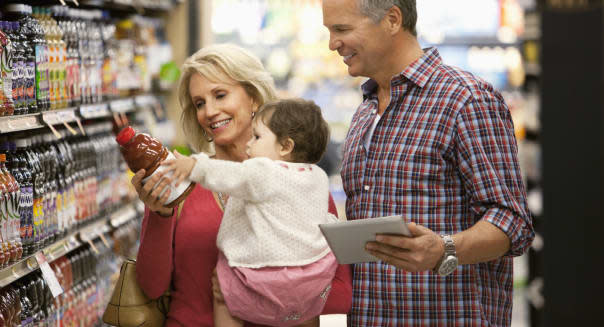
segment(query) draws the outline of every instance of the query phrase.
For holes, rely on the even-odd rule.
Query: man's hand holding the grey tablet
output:
[[[406,271],[433,269],[445,253],[441,237],[415,223],[409,223],[407,226],[411,237],[378,235],[376,242],[367,243],[365,247],[367,252]]]

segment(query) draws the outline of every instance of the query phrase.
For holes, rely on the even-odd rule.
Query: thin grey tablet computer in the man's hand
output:
[[[319,228],[340,264],[378,261],[365,250],[365,244],[375,241],[376,234],[411,236],[402,216],[319,224]]]

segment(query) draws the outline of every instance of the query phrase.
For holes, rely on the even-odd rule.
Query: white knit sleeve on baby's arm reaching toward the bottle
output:
[[[196,162],[189,179],[215,192],[260,202],[270,198],[279,185],[279,167],[268,158],[234,162],[210,159],[205,153],[192,157]]]

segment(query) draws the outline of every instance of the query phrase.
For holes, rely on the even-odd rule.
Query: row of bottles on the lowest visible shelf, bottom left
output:
[[[94,251],[85,245],[50,264],[63,289],[56,298],[40,271],[0,290],[0,326],[101,326],[119,259],[94,244]]]

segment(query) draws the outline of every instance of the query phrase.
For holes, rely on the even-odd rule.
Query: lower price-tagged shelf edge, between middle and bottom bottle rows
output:
[[[46,260],[52,262],[136,217],[137,211],[135,210],[134,205],[125,205],[111,215],[72,233],[38,252],[42,252],[46,257]],[[119,222],[119,224],[114,225],[113,222]],[[0,288],[13,283],[38,268],[38,262],[34,253],[23,258],[19,262],[0,270]]]

